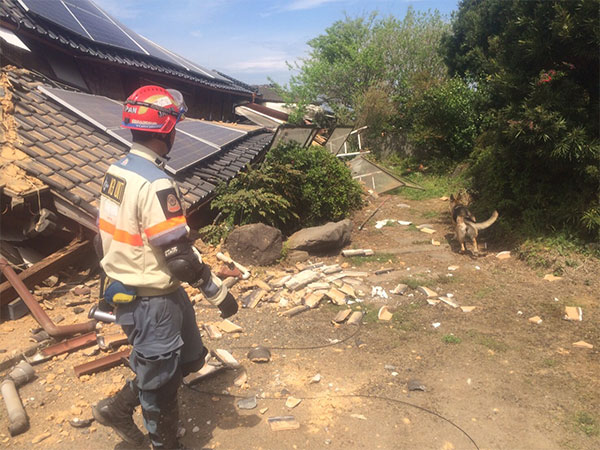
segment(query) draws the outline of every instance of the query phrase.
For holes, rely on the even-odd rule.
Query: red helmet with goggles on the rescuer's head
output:
[[[183,120],[186,111],[181,92],[160,86],[142,86],[125,101],[121,126],[166,134]]]

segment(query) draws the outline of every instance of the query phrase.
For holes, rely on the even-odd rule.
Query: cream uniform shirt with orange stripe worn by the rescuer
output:
[[[106,172],[98,228],[104,251],[100,264],[108,277],[134,286],[138,296],[179,287],[161,247],[187,237],[189,228],[175,182],[150,149],[134,143]]]

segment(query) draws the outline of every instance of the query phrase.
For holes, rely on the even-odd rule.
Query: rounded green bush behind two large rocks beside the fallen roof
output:
[[[234,225],[260,222],[289,234],[341,220],[362,204],[360,186],[343,162],[321,147],[297,144],[271,149],[260,168],[247,167],[216,194],[211,207],[221,221],[200,230],[212,243]]]

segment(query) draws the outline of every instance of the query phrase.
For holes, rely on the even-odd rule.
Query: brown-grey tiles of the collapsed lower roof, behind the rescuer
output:
[[[47,80],[25,69],[2,70],[12,84],[14,118],[21,141],[15,146],[30,157],[17,164],[95,216],[102,177],[128,147],[45,97],[37,86]],[[246,164],[262,157],[272,138],[272,133],[263,130],[248,133],[178,174],[175,179],[189,210],[208,200],[219,182],[231,179]]]

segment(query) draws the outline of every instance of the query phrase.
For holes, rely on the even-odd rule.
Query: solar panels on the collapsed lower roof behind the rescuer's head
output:
[[[131,145],[131,132],[121,128],[123,105],[99,95],[40,86],[40,91],[60,103],[82,119],[111,134],[121,142]],[[218,153],[247,133],[223,125],[186,119],[177,125],[173,148],[165,168],[172,174],[191,167]]]

